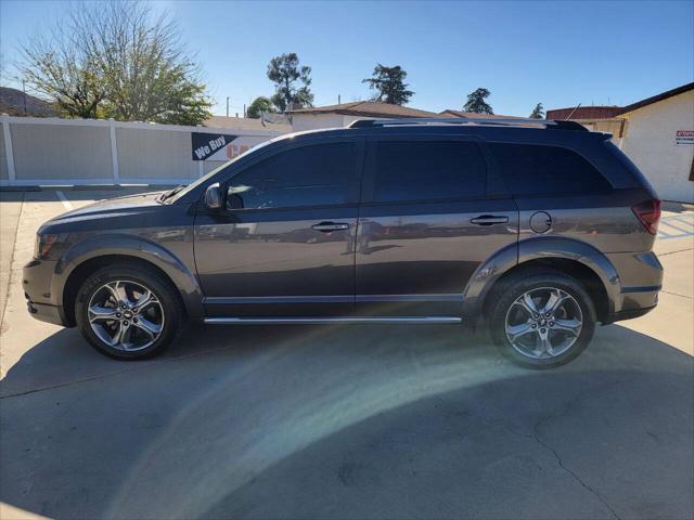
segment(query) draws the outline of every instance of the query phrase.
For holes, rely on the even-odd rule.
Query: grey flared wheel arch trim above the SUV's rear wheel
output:
[[[621,282],[617,270],[604,253],[584,242],[540,236],[507,246],[477,268],[463,294],[463,315],[480,314],[485,298],[501,276],[515,266],[540,259],[573,260],[586,265],[597,275],[605,288],[607,311],[621,310]]]

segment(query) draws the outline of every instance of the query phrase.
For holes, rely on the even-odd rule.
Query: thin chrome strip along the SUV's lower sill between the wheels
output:
[[[287,317],[206,317],[206,324],[210,325],[320,325],[331,323],[462,323],[458,316],[287,316]]]

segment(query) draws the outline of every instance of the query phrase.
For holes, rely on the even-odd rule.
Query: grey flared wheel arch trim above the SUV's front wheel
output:
[[[202,317],[203,292],[197,278],[171,251],[147,238],[134,235],[106,233],[77,242],[66,249],[55,264],[51,294],[55,304],[63,306],[63,288],[69,275],[83,262],[106,256],[134,257],[159,268],[181,294],[189,316]]]

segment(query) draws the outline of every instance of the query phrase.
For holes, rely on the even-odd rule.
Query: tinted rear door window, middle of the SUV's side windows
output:
[[[380,141],[374,200],[483,198],[487,166],[475,143]]]

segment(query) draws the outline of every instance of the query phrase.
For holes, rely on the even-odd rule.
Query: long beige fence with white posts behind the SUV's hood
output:
[[[192,133],[233,135],[250,145],[280,135],[271,130],[9,116],[0,116],[0,127],[2,186],[184,184],[224,162],[193,160]]]

